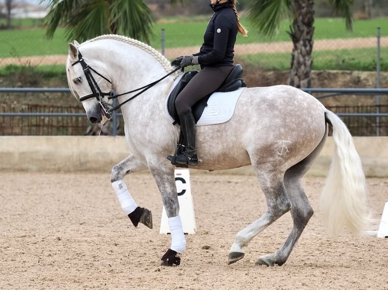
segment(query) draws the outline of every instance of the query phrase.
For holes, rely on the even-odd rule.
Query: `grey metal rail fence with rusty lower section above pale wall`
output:
[[[382,96],[388,96],[386,88],[309,88],[305,91],[317,99],[338,95],[369,95],[376,100],[375,105],[366,106],[326,106],[342,118],[354,136],[388,136],[388,104],[381,105]],[[0,88],[0,93],[17,92],[62,92],[68,88]],[[386,103],[386,102],[385,102]],[[0,105],[0,135],[123,135],[121,113],[101,128],[91,125],[83,107],[56,105]],[[18,108],[18,109],[16,109]]]

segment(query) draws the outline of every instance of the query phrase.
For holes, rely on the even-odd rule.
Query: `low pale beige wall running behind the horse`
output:
[[[365,174],[388,176],[388,137],[354,137]],[[0,171],[110,172],[130,151],[123,136],[0,136]],[[329,137],[308,175],[325,176],[334,152]],[[192,170],[192,173],[195,173]],[[218,173],[253,174],[250,166]]]

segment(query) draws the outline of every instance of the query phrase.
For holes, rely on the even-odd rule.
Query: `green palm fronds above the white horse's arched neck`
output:
[[[171,0],[172,4],[177,1]],[[154,19],[142,0],[42,0],[48,6],[46,35],[54,36],[59,25],[66,38],[85,41],[101,34],[121,33],[149,42]]]

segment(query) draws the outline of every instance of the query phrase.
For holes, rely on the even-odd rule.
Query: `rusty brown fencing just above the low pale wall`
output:
[[[331,106],[329,110],[337,114],[388,113],[388,105],[376,106]],[[111,135],[112,124],[91,125],[82,107],[54,105],[26,105],[15,110],[13,105],[0,105],[0,113],[39,113],[34,115],[0,116],[0,135]],[[62,113],[64,116],[42,114]],[[67,114],[67,115],[66,115]],[[80,114],[73,116],[72,114]],[[388,117],[342,116],[353,136],[388,136]],[[122,116],[119,117],[118,135],[124,135]]]

